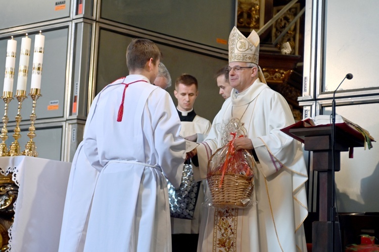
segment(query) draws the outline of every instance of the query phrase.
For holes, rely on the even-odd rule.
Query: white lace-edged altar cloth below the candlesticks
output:
[[[13,172],[19,186],[7,251],[58,251],[70,168],[69,162],[0,157],[0,172]]]

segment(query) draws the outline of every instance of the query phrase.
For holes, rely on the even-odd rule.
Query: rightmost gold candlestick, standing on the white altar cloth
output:
[[[39,96],[41,96],[40,91],[41,90],[39,88],[32,88],[30,89],[30,94],[29,94],[33,100],[32,113],[30,114],[29,133],[27,134],[30,140],[26,143],[25,150],[22,152],[22,155],[29,156],[29,157],[38,157],[38,152],[35,150],[36,146],[33,141],[33,138],[36,136],[34,133],[35,131],[34,121],[37,118],[37,116],[35,115],[35,106],[36,106],[36,102]]]

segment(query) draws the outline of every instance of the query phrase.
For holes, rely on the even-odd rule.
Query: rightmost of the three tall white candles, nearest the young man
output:
[[[33,70],[31,79],[31,89],[41,88],[41,75],[42,75],[42,60],[45,36],[39,34],[35,35],[34,39],[34,53],[33,53]]]

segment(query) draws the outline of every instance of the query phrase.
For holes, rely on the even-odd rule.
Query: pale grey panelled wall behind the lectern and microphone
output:
[[[377,1],[306,1],[303,96],[304,116],[331,114],[336,92],[336,113],[359,124],[374,139],[379,137],[379,84],[372,74],[377,65]],[[374,192],[379,190],[377,143],[371,150],[354,149],[354,158],[341,153],[336,173],[339,212],[379,212]],[[309,210],[316,210],[316,177],[310,165]]]

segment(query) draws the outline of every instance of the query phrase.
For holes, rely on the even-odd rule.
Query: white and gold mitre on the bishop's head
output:
[[[259,35],[253,30],[249,37],[245,37],[235,26],[229,35],[229,63],[248,62],[258,66]],[[262,69],[258,66],[258,77],[266,83]],[[266,83],[267,84],[267,83]]]

